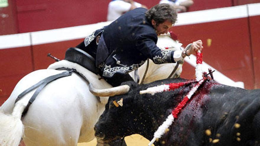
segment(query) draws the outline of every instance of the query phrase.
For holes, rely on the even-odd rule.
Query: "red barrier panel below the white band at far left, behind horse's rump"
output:
[[[31,47],[0,49],[0,105],[4,103],[17,82],[32,72]]]

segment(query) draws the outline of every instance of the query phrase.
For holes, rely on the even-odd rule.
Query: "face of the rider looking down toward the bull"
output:
[[[161,34],[168,33],[168,30],[173,26],[173,24],[169,20],[165,20],[165,22],[156,25],[154,19],[152,19],[152,26],[154,27],[157,36]]]

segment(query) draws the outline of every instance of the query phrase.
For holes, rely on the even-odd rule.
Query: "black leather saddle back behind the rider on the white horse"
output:
[[[91,72],[98,74],[98,68],[95,66],[95,59],[79,48],[70,47],[66,51],[65,60],[77,63]]]

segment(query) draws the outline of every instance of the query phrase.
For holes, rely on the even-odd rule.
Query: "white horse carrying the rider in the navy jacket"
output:
[[[167,46],[158,45],[160,48],[176,45],[169,36],[159,37],[158,42],[170,44]],[[66,62],[66,60],[62,61]],[[100,76],[95,75],[76,63],[69,62],[69,65],[72,68],[77,68],[77,71],[88,78],[93,86],[100,89],[112,87],[103,79],[98,80]],[[143,66],[145,67],[146,65]],[[165,70],[163,72],[159,71],[159,78],[153,77],[153,73],[157,73],[155,69],[158,67],[151,66],[149,68],[150,71],[147,72],[144,79],[144,83],[167,78],[171,70],[173,70],[174,65],[167,67],[168,72]],[[54,65],[50,65],[49,68],[55,68],[55,63]],[[181,65],[179,68],[177,75],[180,74]],[[145,68],[142,67],[138,72],[142,73],[143,70]],[[100,93],[99,91],[95,92],[91,90],[95,95],[90,93],[88,81],[78,73],[72,73],[71,76],[59,78],[47,84],[38,94],[36,100],[30,105],[27,114],[21,118],[22,112],[36,89],[27,93],[21,100],[14,104],[17,96],[40,80],[61,72],[64,72],[64,70],[36,70],[23,77],[17,83],[10,97],[0,107],[1,146],[17,146],[21,139],[26,146],[76,146],[78,142],[89,142],[95,138],[93,127],[103,113],[108,97],[98,98],[95,96],[97,93]],[[163,74],[167,75],[164,76]],[[143,77],[143,75],[139,76],[140,78]],[[146,81],[148,79],[149,81]],[[129,90],[123,86],[118,88],[121,91],[124,90],[123,93]],[[109,91],[102,90],[101,92],[104,94],[101,94],[102,96],[115,95],[114,92],[115,90],[118,91],[118,88],[112,88]]]

